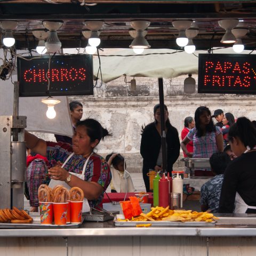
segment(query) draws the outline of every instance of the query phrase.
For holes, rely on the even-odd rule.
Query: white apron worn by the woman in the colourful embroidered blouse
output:
[[[64,168],[64,166],[66,165],[66,163],[69,161],[69,159],[74,155],[75,153],[73,152],[67,159],[66,161],[62,164],[61,168]],[[91,153],[91,155],[93,154],[93,152]],[[76,177],[78,177],[79,179],[81,180],[84,180],[84,173],[85,173],[85,169],[86,169],[86,166],[87,166],[87,163],[91,157],[91,155],[86,159],[86,162],[84,164],[84,167],[83,167],[83,171],[81,174],[78,174],[78,173],[75,173],[75,172],[69,172],[70,174],[72,175],[75,175]],[[65,181],[61,181],[61,180],[54,180],[54,179],[51,179],[50,183],[49,183],[49,187],[50,188],[54,188],[55,186],[57,185],[62,185],[63,187],[65,188],[68,188],[70,189],[71,187],[65,182]],[[90,205],[88,203],[88,200],[86,198],[84,198],[84,201],[83,201],[83,210],[82,212],[89,212],[90,211]]]

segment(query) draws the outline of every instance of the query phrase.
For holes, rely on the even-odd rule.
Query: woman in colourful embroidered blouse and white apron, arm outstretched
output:
[[[79,187],[84,191],[90,206],[98,205],[110,183],[110,170],[107,162],[93,152],[100,140],[109,135],[106,129],[94,119],[85,119],[77,124],[73,145],[63,142],[49,142],[28,132],[25,141],[28,148],[46,156],[51,166],[50,187],[62,184],[66,187]],[[85,210],[89,210],[86,201]]]

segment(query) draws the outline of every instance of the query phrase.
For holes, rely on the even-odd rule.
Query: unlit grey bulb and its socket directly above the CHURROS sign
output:
[[[61,48],[61,42],[57,35],[57,30],[62,26],[62,21],[43,21],[43,25],[45,28],[50,30],[47,41],[45,42],[45,47],[48,52],[58,52]]]

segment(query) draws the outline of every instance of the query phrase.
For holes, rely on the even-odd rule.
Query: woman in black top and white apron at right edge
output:
[[[238,157],[224,173],[219,212],[256,213],[256,130],[249,119],[239,117],[228,139]]]

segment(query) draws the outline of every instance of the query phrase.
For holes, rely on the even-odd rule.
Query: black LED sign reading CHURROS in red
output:
[[[93,94],[91,55],[54,55],[50,69],[48,56],[32,58],[17,58],[21,97],[46,97],[49,81],[52,96]]]

